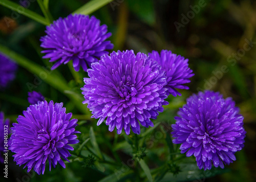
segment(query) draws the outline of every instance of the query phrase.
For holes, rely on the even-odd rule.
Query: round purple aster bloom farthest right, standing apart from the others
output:
[[[194,154],[200,169],[224,168],[236,160],[234,153],[244,147],[243,116],[232,98],[224,99],[218,92],[205,91],[187,99],[175,117],[172,135],[181,153]]]

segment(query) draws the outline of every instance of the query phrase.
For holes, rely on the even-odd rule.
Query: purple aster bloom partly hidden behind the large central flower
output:
[[[162,70],[166,71],[167,77],[167,94],[173,96],[181,96],[181,93],[176,89],[189,89],[183,84],[189,83],[189,78],[194,75],[193,70],[188,67],[188,59],[176,54],[172,54],[170,50],[162,50],[160,55],[158,51],[153,50],[148,53],[150,58],[156,60],[161,65]]]

